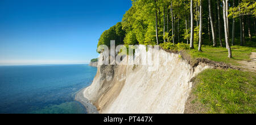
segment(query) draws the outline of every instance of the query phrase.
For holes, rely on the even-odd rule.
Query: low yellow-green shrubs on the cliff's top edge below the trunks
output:
[[[173,44],[173,43],[170,43],[170,42],[166,42],[166,43],[161,43],[159,45],[163,49],[167,49],[167,50],[183,51],[183,50],[189,49],[189,45],[185,44],[185,43]]]

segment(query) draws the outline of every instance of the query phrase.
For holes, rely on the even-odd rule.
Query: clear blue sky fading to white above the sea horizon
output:
[[[88,63],[130,0],[1,0],[0,65]]]

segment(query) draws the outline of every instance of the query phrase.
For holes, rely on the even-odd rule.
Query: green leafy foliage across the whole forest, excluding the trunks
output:
[[[208,32],[208,15],[209,15],[209,3],[208,1],[201,1],[203,6],[203,29],[202,32]],[[212,15],[213,23],[214,25],[218,22],[218,14],[217,14],[217,1],[212,1]],[[219,1],[221,3],[221,1]],[[238,2],[238,1],[237,1]],[[172,4],[171,4],[172,3]],[[214,4],[215,3],[215,4]],[[231,2],[230,2],[231,3]],[[195,0],[193,2],[193,11],[194,11],[194,19],[193,22],[199,21],[199,5],[200,0]],[[126,11],[125,15],[123,15],[122,22],[117,23],[115,26],[111,27],[109,30],[106,30],[101,35],[98,45],[110,45],[110,40],[115,40],[115,45],[119,44],[125,44],[125,45],[134,45],[134,44],[144,44],[144,45],[156,45],[156,25],[158,28],[158,40],[159,44],[164,43],[164,40],[167,42],[174,43],[182,43],[185,40],[190,39],[190,27],[189,22],[191,20],[189,19],[190,14],[190,1],[189,0],[132,0],[131,8]],[[229,15],[233,15],[236,17],[237,15],[253,15],[255,13],[255,1],[249,1],[249,0],[242,0],[242,3],[234,7],[234,9],[231,7],[232,4],[230,4],[230,11]],[[237,3],[236,3],[237,5]],[[172,12],[171,12],[172,7]],[[237,11],[238,7],[240,7],[240,11]],[[165,10],[165,11],[164,11]],[[164,16],[165,12],[165,16]],[[234,13],[233,13],[234,12]],[[171,14],[172,13],[172,14]],[[222,3],[220,4],[220,22],[223,22],[222,17]],[[255,14],[254,14],[255,15]],[[157,16],[157,24],[156,24],[156,16]],[[168,18],[167,18],[168,16]],[[172,16],[173,19],[172,20]],[[245,20],[250,20],[250,26],[253,26],[253,18],[252,16],[244,16]],[[247,19],[246,19],[247,18]],[[168,19],[168,27],[167,27],[167,19]],[[165,23],[164,23],[165,20]],[[174,29],[172,29],[172,21],[174,22]],[[235,37],[236,39],[239,39],[238,37],[240,35],[238,30],[238,21],[239,19],[236,19],[236,28],[235,28]],[[231,23],[231,22],[230,22]],[[245,22],[244,22],[245,23]],[[165,24],[165,25],[164,25]],[[165,28],[163,28],[165,26]],[[186,30],[187,26],[187,30]],[[196,26],[196,24],[194,24]],[[216,34],[216,39],[218,40],[218,32],[221,33],[221,38],[224,39],[224,25],[221,25],[221,31],[214,31]],[[231,24],[230,24],[231,26]],[[247,28],[249,27],[249,23],[245,23],[245,36],[249,36],[247,34]],[[211,27],[209,27],[211,28]],[[232,27],[229,27],[230,31]],[[217,30],[218,27],[215,26],[214,30]],[[172,31],[174,32],[174,35],[172,36]],[[211,29],[209,30],[209,33],[212,32]],[[255,34],[255,30],[253,27],[250,29],[251,35],[253,33]],[[163,35],[163,33],[165,33]],[[179,33],[179,34],[178,34]],[[194,31],[194,44],[199,43],[199,27],[195,27]],[[204,34],[204,33],[202,33]],[[210,36],[209,36],[210,35]],[[212,34],[203,35],[203,44],[204,45],[212,45],[212,42],[207,40],[212,37]],[[231,32],[230,32],[230,39],[231,39]],[[179,41],[178,41],[179,38]],[[222,40],[222,44],[225,45],[225,40]],[[187,43],[187,42],[185,42]],[[246,45],[247,43],[253,43],[255,45],[255,42],[253,40],[247,41],[246,39]],[[217,44],[218,41],[217,41]],[[239,43],[238,43],[239,44]],[[175,44],[174,47],[171,45],[167,45],[167,49],[175,49],[178,50],[179,48],[176,47]],[[183,49],[183,48],[181,48]],[[186,48],[184,48],[186,49]],[[204,49],[204,46],[203,46]],[[217,49],[216,49],[217,50]],[[224,49],[223,49],[224,51]],[[197,53],[195,51],[195,53]],[[236,53],[236,52],[235,52]],[[228,60],[228,59],[227,59]]]

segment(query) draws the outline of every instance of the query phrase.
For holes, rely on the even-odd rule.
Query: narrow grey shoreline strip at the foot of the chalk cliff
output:
[[[90,103],[90,101],[87,98],[84,97],[83,91],[85,89],[86,89],[86,87],[84,87],[83,89],[81,89],[80,91],[78,91],[76,93],[75,101],[78,101],[82,105],[84,105],[87,114],[98,114],[98,110],[97,110],[96,106],[94,106],[92,103]]]

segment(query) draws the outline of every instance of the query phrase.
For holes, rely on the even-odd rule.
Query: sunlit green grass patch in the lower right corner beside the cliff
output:
[[[195,80],[191,103],[202,104],[204,113],[256,113],[256,75],[240,70],[208,69]],[[195,107],[196,108],[196,107]]]

